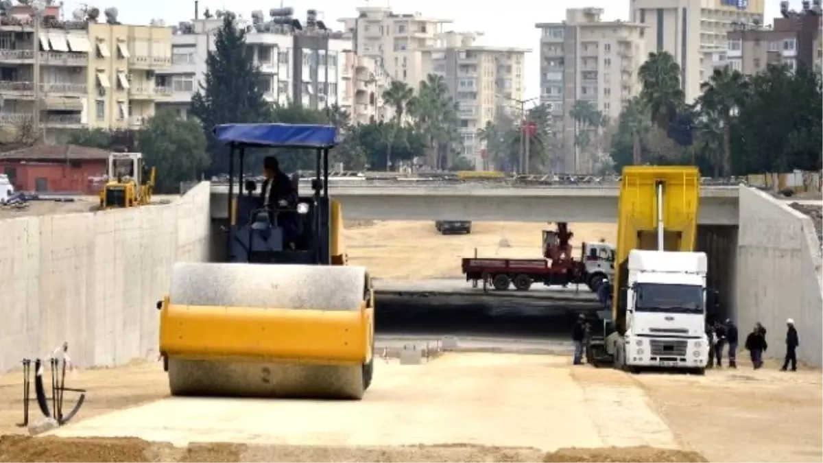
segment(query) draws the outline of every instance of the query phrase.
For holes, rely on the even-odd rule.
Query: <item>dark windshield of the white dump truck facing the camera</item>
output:
[[[703,313],[703,288],[690,284],[637,283],[635,310],[639,312]]]

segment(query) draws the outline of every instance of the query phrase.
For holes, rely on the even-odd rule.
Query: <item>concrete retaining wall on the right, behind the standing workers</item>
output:
[[[800,335],[798,358],[823,365],[823,260],[809,217],[757,189],[740,189],[737,320],[741,342],[756,322],[769,330],[770,357],[786,352],[786,319]]]

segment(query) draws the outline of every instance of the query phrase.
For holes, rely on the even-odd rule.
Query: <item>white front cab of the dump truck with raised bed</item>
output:
[[[616,363],[703,372],[707,257],[702,252],[631,250],[625,291],[625,334]]]

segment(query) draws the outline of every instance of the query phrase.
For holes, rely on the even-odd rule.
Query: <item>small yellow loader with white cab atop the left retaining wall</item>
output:
[[[139,152],[109,154],[109,181],[100,190],[100,208],[133,208],[151,203],[156,169]]]

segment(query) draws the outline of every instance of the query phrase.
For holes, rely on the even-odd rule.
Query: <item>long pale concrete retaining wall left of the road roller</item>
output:
[[[174,203],[0,222],[0,373],[67,341],[81,366],[157,355],[176,260],[208,260],[209,184]]]

